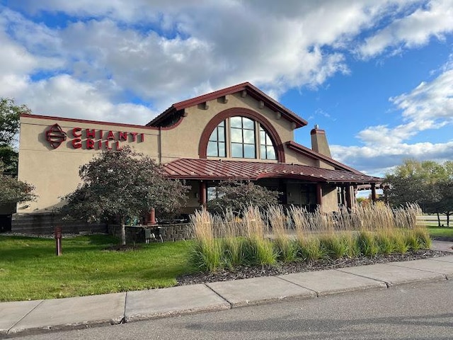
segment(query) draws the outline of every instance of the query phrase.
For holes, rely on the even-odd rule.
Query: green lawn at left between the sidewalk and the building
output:
[[[169,287],[192,271],[187,261],[191,242],[104,250],[117,242],[105,235],[62,239],[62,256],[55,256],[54,239],[0,236],[0,301]]]

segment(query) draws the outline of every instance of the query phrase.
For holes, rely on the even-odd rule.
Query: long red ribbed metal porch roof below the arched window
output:
[[[301,179],[313,182],[382,183],[379,177],[350,171],[321,169],[287,163],[223,161],[219,159],[177,159],[164,164],[166,176],[172,179],[251,180],[266,178]]]

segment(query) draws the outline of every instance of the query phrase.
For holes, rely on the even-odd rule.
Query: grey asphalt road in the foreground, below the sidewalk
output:
[[[453,280],[20,339],[453,339]]]

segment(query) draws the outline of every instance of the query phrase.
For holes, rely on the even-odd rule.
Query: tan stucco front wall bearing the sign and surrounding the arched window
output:
[[[283,117],[277,116],[274,111],[267,107],[259,108],[259,103],[256,99],[251,96],[243,98],[240,93],[228,95],[227,99],[227,103],[224,103],[222,99],[208,101],[208,109],[203,108],[201,105],[186,108],[186,116],[177,125],[163,129],[42,116],[22,117],[18,177],[21,181],[27,181],[35,186],[38,200],[18,205],[18,212],[52,210],[52,208],[61,204],[59,196],[64,196],[74,191],[80,183],[79,166],[89,162],[99,151],[97,149],[74,149],[71,144],[74,139],[71,134],[73,128],[81,128],[83,131],[86,129],[103,130],[104,134],[110,130],[115,134],[124,131],[143,133],[144,141],[120,142],[120,145],[131,145],[138,152],[143,152],[156,159],[157,162],[162,163],[171,162],[179,158],[199,158],[200,137],[205,126],[215,115],[229,108],[247,108],[255,111],[263,115],[273,125],[283,144],[294,140],[292,123]],[[45,138],[45,132],[55,123],[58,123],[62,130],[67,133],[67,141],[63,142],[57,149],[53,149]],[[309,133],[308,129],[306,133]],[[85,140],[84,138],[82,139]],[[96,136],[95,140],[98,140],[98,136]],[[259,159],[247,160],[248,162],[277,162],[261,161]],[[319,162],[314,159],[297,154],[297,152],[286,147],[285,160],[287,163],[319,166]],[[324,164],[323,167],[331,166]],[[193,185],[193,188],[189,193],[186,211],[193,211],[193,208],[200,206],[199,198],[195,197],[198,185],[196,182],[190,184]],[[300,193],[295,191],[292,200],[300,200],[297,195],[300,195]],[[323,201],[326,205],[326,211],[336,208],[336,191],[333,194],[325,193]]]

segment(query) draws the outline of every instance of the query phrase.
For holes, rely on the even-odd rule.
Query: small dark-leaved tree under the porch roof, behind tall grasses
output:
[[[277,204],[280,195],[277,191],[270,191],[250,181],[223,181],[216,191],[217,198],[208,202],[208,209],[217,213],[231,209],[236,215],[248,205],[263,209]]]

